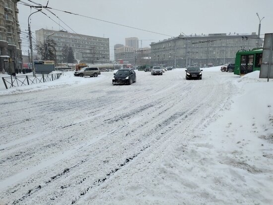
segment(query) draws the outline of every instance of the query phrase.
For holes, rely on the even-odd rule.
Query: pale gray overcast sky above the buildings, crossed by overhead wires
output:
[[[31,1],[43,5],[48,2],[48,0]],[[27,32],[28,16],[35,9],[30,10],[29,6],[22,3],[34,4],[31,1],[22,0],[17,4],[19,23],[24,32]],[[52,10],[69,28],[44,8],[43,11],[57,23],[41,12],[31,15],[33,32],[40,28],[66,29],[68,32],[73,32],[71,30],[73,29],[79,34],[106,37],[110,39],[110,51],[117,43],[125,44],[126,37],[138,37],[142,40],[142,47],[145,47],[151,41],[157,42],[171,36],[178,36],[181,32],[187,35],[258,33],[259,18],[256,12],[259,13],[260,18],[265,17],[261,22],[261,34],[273,32],[273,0],[49,0],[48,6],[166,34],[150,33]],[[23,46],[27,45],[23,33],[21,37]]]

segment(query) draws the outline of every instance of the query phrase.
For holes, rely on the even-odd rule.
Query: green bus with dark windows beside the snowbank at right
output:
[[[236,53],[234,74],[243,76],[253,71],[260,71],[262,57],[262,48],[254,48],[251,51],[239,50]]]

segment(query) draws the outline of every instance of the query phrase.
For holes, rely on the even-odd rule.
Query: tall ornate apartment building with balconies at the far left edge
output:
[[[22,51],[20,39],[19,12],[20,0],[0,0],[0,72],[15,73],[15,68],[22,69]],[[8,60],[11,58],[11,62]]]

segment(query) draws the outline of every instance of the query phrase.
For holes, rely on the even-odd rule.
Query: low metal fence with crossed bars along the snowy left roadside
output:
[[[54,81],[60,78],[63,73],[56,73],[56,74],[38,74],[36,76],[10,76],[10,77],[2,77],[4,82],[5,88],[11,87],[19,87],[19,86],[26,86],[32,85],[37,83],[45,83],[49,81]]]

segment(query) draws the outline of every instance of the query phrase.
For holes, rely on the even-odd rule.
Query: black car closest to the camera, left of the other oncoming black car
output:
[[[133,69],[120,69],[114,74],[113,85],[136,83],[136,72]]]

